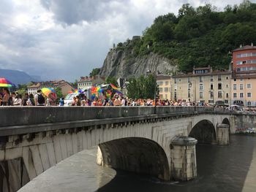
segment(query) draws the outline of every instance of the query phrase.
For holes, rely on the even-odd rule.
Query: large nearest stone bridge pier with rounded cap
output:
[[[195,145],[197,139],[176,137],[170,145],[170,174],[173,180],[192,180],[197,177]]]

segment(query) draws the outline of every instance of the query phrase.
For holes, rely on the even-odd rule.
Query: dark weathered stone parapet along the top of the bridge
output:
[[[0,127],[59,123],[76,120],[127,118],[195,112],[224,112],[214,107],[0,107]]]

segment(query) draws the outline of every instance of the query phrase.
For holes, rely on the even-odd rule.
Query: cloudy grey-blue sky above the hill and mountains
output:
[[[158,15],[205,2],[223,9],[241,0],[0,0],[0,69],[73,81]]]

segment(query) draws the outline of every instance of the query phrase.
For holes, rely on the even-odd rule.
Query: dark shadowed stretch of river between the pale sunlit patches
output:
[[[230,146],[225,147],[197,145],[198,177],[195,180],[163,183],[151,177],[116,171],[116,177],[98,191],[242,191],[256,147],[256,137],[232,136],[230,142]],[[107,182],[102,180],[101,183]]]

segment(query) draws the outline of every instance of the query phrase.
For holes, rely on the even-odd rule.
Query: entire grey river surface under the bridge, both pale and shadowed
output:
[[[197,145],[197,174],[189,182],[164,183],[152,177],[118,171],[95,163],[96,150],[61,161],[20,191],[39,192],[255,192],[256,137],[231,136],[229,146]]]

